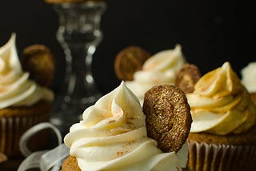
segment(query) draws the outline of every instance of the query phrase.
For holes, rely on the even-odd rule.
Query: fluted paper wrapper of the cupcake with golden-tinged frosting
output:
[[[256,169],[256,145],[214,145],[189,141],[191,171]]]

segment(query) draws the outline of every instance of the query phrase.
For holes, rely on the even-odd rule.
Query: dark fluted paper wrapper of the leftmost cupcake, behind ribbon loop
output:
[[[48,120],[49,114],[0,117],[0,151],[8,157],[22,157],[18,148],[18,141],[22,133],[26,132],[32,125]],[[43,134],[38,135],[39,140],[42,140]],[[33,143],[33,141],[31,142]],[[38,146],[45,143],[46,141],[34,141],[30,146],[32,149],[37,149]]]

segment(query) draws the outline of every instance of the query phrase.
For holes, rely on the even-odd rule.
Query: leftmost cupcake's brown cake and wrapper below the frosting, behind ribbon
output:
[[[19,138],[31,126],[43,121],[49,121],[51,103],[39,101],[30,107],[12,107],[0,109],[0,152],[10,158],[22,157],[18,148]],[[46,133],[32,137],[29,148],[36,150],[46,145]]]

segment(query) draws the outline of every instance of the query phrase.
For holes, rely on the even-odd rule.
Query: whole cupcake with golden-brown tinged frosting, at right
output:
[[[190,169],[256,168],[256,106],[230,63],[203,75],[186,97],[193,119]]]

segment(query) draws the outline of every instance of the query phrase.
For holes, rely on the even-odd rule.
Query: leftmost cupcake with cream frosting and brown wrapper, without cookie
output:
[[[30,79],[22,70],[15,46],[15,34],[0,47],[0,153],[9,159],[22,157],[18,141],[30,126],[50,117],[54,93]],[[45,67],[47,68],[47,67]],[[36,141],[31,148],[38,148]]]

